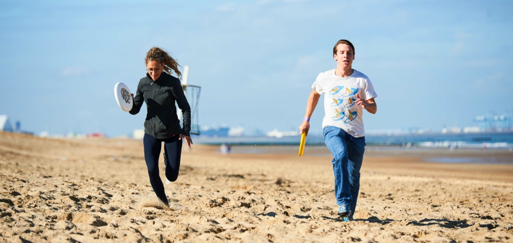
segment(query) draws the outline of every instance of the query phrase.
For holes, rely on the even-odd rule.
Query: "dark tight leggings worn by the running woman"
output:
[[[166,192],[164,191],[164,184],[159,175],[159,156],[164,142],[164,152],[166,153],[166,178],[174,182],[178,178],[180,170],[180,157],[182,155],[182,140],[178,140],[180,135],[168,139],[156,139],[149,134],[144,134],[144,160],[148,167],[148,174],[150,175],[150,184],[157,197],[164,203],[168,203]]]

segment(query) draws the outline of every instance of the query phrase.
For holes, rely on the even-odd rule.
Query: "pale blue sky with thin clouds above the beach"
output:
[[[202,87],[201,126],[293,130],[348,39],[352,67],[378,94],[366,130],[477,126],[476,116],[513,111],[511,13],[508,0],[0,0],[0,114],[36,133],[130,135],[146,108],[123,112],[113,87],[135,93],[156,46]]]

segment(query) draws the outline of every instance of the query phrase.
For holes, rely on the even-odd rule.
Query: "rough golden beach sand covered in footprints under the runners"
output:
[[[355,220],[343,222],[329,157],[217,150],[182,153],[179,179],[165,184],[166,208],[141,141],[0,132],[0,241],[513,241],[513,165],[369,151]],[[160,168],[165,181],[162,155]]]

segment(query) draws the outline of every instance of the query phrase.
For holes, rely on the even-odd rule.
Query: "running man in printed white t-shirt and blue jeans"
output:
[[[310,129],[310,117],[321,94],[324,95],[324,142],[333,154],[335,198],[339,217],[352,220],[360,190],[360,168],[365,151],[363,109],[375,114],[378,95],[363,73],[352,69],[354,46],[339,40],[333,47],[337,68],[320,73],[312,84],[300,134]]]

